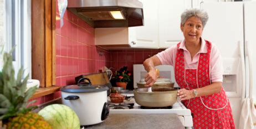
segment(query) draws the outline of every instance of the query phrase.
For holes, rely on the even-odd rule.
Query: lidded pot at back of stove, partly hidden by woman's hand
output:
[[[145,88],[145,79],[141,79],[140,82],[137,82],[138,88]],[[152,89],[154,88],[161,88],[161,87],[170,87],[173,88],[174,82],[172,82],[170,79],[165,78],[157,78],[156,82],[152,85]]]

